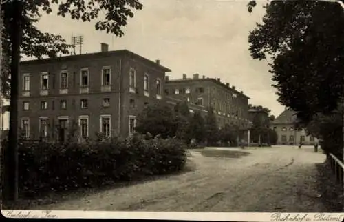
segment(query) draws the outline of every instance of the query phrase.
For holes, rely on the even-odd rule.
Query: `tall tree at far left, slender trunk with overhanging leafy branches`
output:
[[[40,10],[49,14],[52,12],[51,4],[58,4],[58,15],[65,17],[70,15],[71,19],[81,19],[82,21],[92,21],[98,17],[100,10],[105,12],[105,21],[98,21],[95,25],[96,30],[106,30],[116,36],[122,36],[121,28],[127,24],[127,17],[133,17],[131,9],[140,10],[142,4],[136,0],[89,0],[85,1],[67,0],[58,3],[58,0],[38,0],[38,1],[5,1],[1,3],[1,31],[2,44],[1,50],[6,59],[1,61],[1,82],[3,87],[1,92],[8,97],[10,90],[10,130],[9,150],[6,156],[10,156],[6,161],[7,169],[12,170],[8,173],[10,181],[8,188],[11,199],[17,200],[18,197],[18,72],[20,54],[33,56],[38,59],[47,55],[56,57],[58,53],[67,54],[65,41],[60,36],[42,33],[34,23],[38,21],[41,14]],[[7,192],[6,192],[7,193]]]

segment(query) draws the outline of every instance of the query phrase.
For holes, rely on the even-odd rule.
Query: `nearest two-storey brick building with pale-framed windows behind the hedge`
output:
[[[164,99],[168,68],[128,50],[23,61],[19,76],[19,121],[24,137],[65,141],[127,136],[144,106]]]

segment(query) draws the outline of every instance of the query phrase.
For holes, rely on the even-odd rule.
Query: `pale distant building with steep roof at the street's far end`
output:
[[[272,122],[271,127],[278,136],[277,145],[314,144],[314,137],[308,136],[305,130],[294,130],[296,120],[296,112],[286,109]]]

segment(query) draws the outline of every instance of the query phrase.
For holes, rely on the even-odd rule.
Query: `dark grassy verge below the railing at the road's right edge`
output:
[[[332,173],[330,162],[316,164],[318,170],[317,188],[321,194],[321,201],[326,209],[324,212],[342,212],[343,210],[343,188],[336,182]]]

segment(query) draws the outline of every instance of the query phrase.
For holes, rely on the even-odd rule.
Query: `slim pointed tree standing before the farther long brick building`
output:
[[[219,128],[214,109],[210,106],[205,118],[205,132],[207,145],[216,145],[219,141]]]

